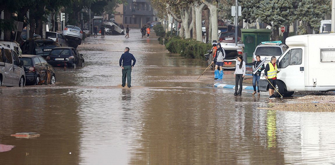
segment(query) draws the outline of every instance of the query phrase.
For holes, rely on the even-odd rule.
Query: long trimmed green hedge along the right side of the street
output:
[[[163,37],[160,39],[162,42]],[[182,39],[179,36],[165,38],[165,48],[171,53],[179,53],[186,58],[205,59],[204,54],[212,48],[211,44],[195,41],[192,39]]]

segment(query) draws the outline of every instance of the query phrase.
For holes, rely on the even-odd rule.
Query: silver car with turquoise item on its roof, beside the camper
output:
[[[252,61],[255,61],[256,55],[259,55],[261,60],[267,57],[265,63],[269,63],[272,56],[276,56],[278,59],[278,57],[287,49],[288,47],[285,44],[282,44],[281,41],[262,42],[255,48]]]

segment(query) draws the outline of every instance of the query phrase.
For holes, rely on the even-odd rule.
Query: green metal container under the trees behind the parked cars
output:
[[[270,41],[271,32],[271,29],[241,29],[244,52],[248,53],[248,63],[252,61],[256,46],[263,41]]]

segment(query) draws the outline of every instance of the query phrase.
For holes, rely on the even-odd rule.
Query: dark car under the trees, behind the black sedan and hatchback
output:
[[[57,47],[56,42],[52,39],[37,39],[25,41],[21,49],[22,54],[47,56],[55,47]]]

